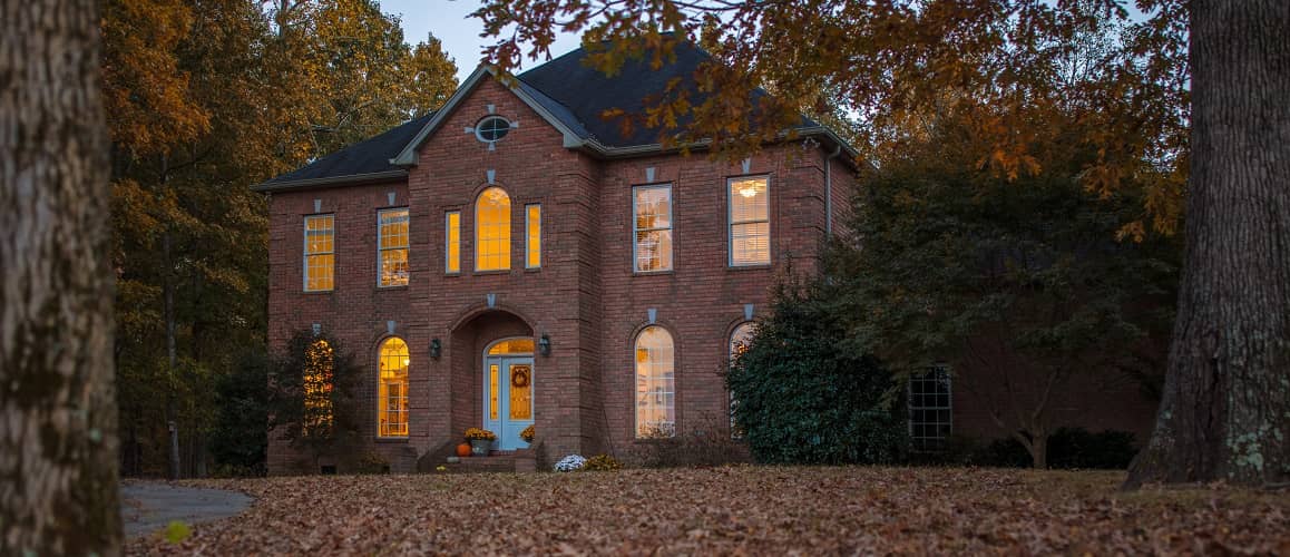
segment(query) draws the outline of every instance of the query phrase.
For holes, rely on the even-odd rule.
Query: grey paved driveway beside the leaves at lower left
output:
[[[164,529],[170,521],[192,525],[231,517],[249,507],[252,500],[239,491],[125,481],[121,484],[125,536],[151,534]]]

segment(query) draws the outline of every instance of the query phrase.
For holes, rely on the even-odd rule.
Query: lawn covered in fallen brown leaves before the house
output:
[[[1121,473],[631,469],[205,481],[258,500],[129,553],[1290,554],[1290,494],[1121,494]]]

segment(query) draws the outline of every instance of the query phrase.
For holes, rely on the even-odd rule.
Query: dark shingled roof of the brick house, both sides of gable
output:
[[[711,59],[708,53],[698,46],[682,43],[675,49],[676,61],[659,70],[651,70],[649,61],[627,61],[614,76],[605,76],[597,70],[583,66],[587,52],[582,48],[564,54],[551,62],[520,73],[516,88],[533,102],[544,108],[579,139],[592,139],[609,148],[639,147],[659,143],[658,129],[635,126],[632,134],[623,137],[615,120],[605,120],[601,113],[609,108],[620,108],[628,113],[642,113],[645,99],[664,92],[668,81],[682,77],[690,86],[691,102],[702,102],[688,77],[700,63]],[[479,75],[479,73],[476,73]],[[489,79],[489,73],[482,73]],[[471,85],[470,83],[463,86]],[[461,92],[458,93],[461,94]],[[755,97],[765,95],[757,89]],[[452,107],[444,107],[452,110]],[[341,151],[319,159],[304,168],[270,179],[255,190],[273,191],[292,186],[315,186],[320,182],[342,183],[348,178],[387,178],[402,171],[390,164],[400,156],[409,143],[417,141],[418,133],[432,120],[433,112],[408,121],[372,139],[366,139]],[[679,122],[684,125],[685,122]],[[817,128],[810,119],[801,119],[801,128]],[[378,174],[373,177],[372,174]]]

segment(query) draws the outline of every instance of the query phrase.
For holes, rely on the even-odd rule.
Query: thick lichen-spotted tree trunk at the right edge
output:
[[[1146,482],[1290,476],[1290,3],[1193,0],[1178,321]]]

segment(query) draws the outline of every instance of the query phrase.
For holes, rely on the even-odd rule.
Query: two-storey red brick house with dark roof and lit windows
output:
[[[734,164],[680,156],[600,115],[639,110],[704,54],[614,77],[583,55],[510,86],[481,67],[440,111],[255,186],[270,344],[325,330],[370,369],[362,436],[395,472],[468,427],[515,450],[533,424],[555,456],[729,432],[731,342],[842,218],[855,152],[828,129],[804,119]],[[920,428],[948,431],[946,395]],[[312,465],[275,437],[271,473]]]

